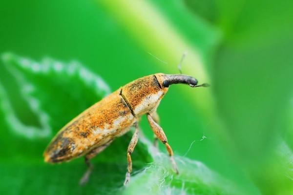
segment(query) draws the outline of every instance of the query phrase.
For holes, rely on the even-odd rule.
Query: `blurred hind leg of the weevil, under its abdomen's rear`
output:
[[[108,147],[110,145],[110,143],[113,140],[108,141],[107,143],[105,143],[102,146],[99,146],[97,148],[92,149],[91,151],[89,151],[85,156],[84,156],[84,162],[87,166],[87,170],[84,173],[84,176],[81,178],[79,184],[83,185],[84,183],[86,183],[88,181],[88,177],[90,176],[92,169],[93,169],[93,165],[90,163],[90,159],[93,158],[94,156],[97,156],[99,153],[101,153],[103,150],[105,150],[106,147]]]

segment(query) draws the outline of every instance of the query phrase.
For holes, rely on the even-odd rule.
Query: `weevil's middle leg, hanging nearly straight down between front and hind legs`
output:
[[[125,181],[124,181],[124,185],[126,185],[129,181],[130,181],[130,173],[132,172],[132,161],[131,161],[131,153],[134,150],[134,147],[137,144],[138,141],[138,132],[139,132],[139,127],[138,127],[138,123],[135,124],[135,132],[131,137],[130,143],[128,145],[128,149],[127,149],[127,162],[128,162],[128,166],[127,166],[127,172],[126,172],[126,176],[125,176]]]

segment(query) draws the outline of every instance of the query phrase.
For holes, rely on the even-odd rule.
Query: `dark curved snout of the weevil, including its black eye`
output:
[[[183,83],[183,84],[188,84],[191,87],[194,87],[197,85],[197,80],[196,78],[190,77],[188,75],[165,75],[165,80],[163,81],[163,86],[164,87],[169,87],[171,84],[178,84],[178,83]]]

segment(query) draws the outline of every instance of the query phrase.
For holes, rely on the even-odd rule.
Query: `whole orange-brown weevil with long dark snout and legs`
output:
[[[206,83],[197,85],[195,78],[182,74],[158,73],[138,78],[120,87],[66,124],[46,148],[44,161],[60,163],[84,156],[88,168],[80,180],[80,184],[83,184],[88,180],[93,168],[89,160],[101,153],[116,137],[123,136],[131,126],[135,126],[126,152],[126,185],[132,171],[131,154],[139,137],[138,122],[140,117],[146,115],[155,138],[166,146],[172,167],[178,174],[173,151],[158,124],[159,117],[156,113],[169,86],[178,83],[188,84],[190,87],[208,86]]]

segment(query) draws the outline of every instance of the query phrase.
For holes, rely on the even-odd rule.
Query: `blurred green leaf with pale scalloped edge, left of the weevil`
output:
[[[62,127],[64,119],[70,120],[110,93],[102,78],[76,61],[65,64],[47,58],[39,63],[7,53],[2,55],[2,64],[5,67],[1,69],[6,73],[1,79],[5,119],[13,131],[24,137],[52,136]],[[31,109],[27,110],[29,114],[15,108],[15,102],[20,100]]]

